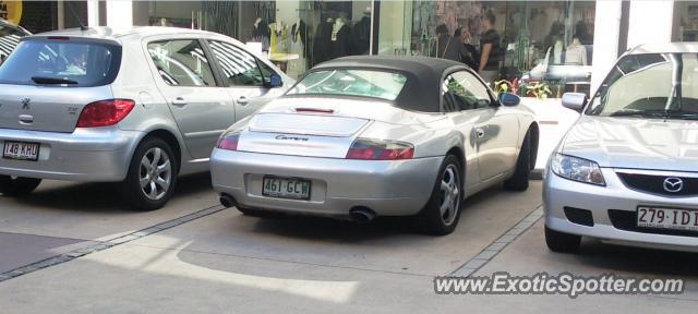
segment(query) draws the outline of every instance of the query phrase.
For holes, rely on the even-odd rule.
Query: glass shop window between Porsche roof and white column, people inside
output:
[[[593,1],[416,0],[412,8],[411,55],[460,59],[494,87],[504,84],[522,96],[532,96],[527,86],[539,83],[549,86],[547,97],[589,93]],[[440,27],[445,32],[437,34]],[[467,52],[453,52],[454,43]],[[483,50],[490,51],[488,58]],[[474,62],[461,58],[468,55]]]

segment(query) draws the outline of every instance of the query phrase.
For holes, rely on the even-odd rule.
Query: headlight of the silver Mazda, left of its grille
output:
[[[595,185],[606,185],[599,164],[591,160],[555,154],[550,167],[553,173],[565,179]]]

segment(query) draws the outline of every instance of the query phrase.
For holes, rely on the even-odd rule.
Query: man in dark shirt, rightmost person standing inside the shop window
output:
[[[502,59],[502,49],[500,47],[500,34],[494,29],[494,13],[488,11],[482,21],[482,29],[484,31],[480,37],[480,76],[488,83],[497,80],[500,71],[500,61]]]

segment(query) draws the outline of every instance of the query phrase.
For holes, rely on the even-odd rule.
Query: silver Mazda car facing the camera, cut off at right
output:
[[[698,45],[639,46],[623,56],[553,153],[544,181],[545,240],[581,237],[698,249]]]

